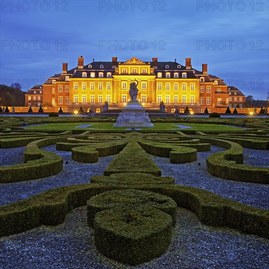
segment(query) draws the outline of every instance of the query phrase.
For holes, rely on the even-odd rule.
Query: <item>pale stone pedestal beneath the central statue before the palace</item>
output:
[[[154,127],[154,125],[150,121],[149,114],[135,100],[130,101],[122,112],[119,113],[117,122],[113,127]]]

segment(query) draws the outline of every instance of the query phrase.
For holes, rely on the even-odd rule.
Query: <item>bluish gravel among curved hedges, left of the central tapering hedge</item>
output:
[[[21,148],[16,149],[21,151]],[[113,159],[113,156],[100,157],[97,163],[83,163],[72,160],[71,152],[57,151],[55,145],[44,147],[43,149],[63,157],[63,171],[48,178],[0,184],[0,205],[16,202],[56,187],[89,183],[91,176],[103,175],[105,168]],[[13,151],[14,149],[1,150],[2,153],[5,152],[5,155],[8,155],[10,150]],[[3,156],[4,154],[2,154],[4,159]],[[16,156],[15,153],[14,156]],[[66,161],[68,161],[68,164],[66,164]]]

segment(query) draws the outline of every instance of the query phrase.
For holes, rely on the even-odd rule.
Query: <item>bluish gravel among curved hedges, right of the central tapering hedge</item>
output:
[[[173,164],[169,158],[156,156],[152,156],[152,159],[161,169],[162,176],[175,178],[176,184],[206,189],[238,202],[269,209],[269,185],[220,179],[207,172],[206,158],[222,150],[211,146],[210,152],[198,152],[197,161],[190,163]],[[245,164],[267,166],[269,151],[244,149],[244,158]]]

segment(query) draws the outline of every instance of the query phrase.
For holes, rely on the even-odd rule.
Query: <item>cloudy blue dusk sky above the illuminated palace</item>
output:
[[[28,90],[62,63],[175,61],[254,99],[269,90],[269,1],[0,1],[0,84]]]

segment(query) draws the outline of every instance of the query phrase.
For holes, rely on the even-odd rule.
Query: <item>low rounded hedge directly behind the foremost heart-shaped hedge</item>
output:
[[[173,225],[176,225],[177,204],[168,196],[156,194],[154,192],[126,189],[107,191],[92,197],[87,202],[87,221],[93,227],[95,215],[106,209],[119,210],[120,208],[145,205],[148,208],[155,208],[170,215]]]

